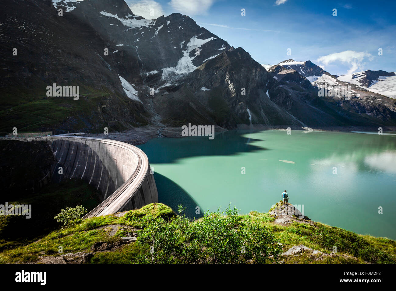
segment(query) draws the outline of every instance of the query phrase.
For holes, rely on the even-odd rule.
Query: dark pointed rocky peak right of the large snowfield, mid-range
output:
[[[268,72],[242,48],[225,51],[190,73],[186,82],[192,92],[205,87],[200,101],[208,104],[217,119],[226,128],[236,124],[291,124],[301,125],[286,110],[271,101],[270,96],[288,95]],[[268,95],[267,95],[268,94]]]

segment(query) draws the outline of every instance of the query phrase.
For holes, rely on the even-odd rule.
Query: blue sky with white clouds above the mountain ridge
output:
[[[242,47],[261,64],[310,60],[337,75],[361,70],[396,71],[394,1],[126,2],[133,13],[146,18],[186,14],[231,46]],[[149,16],[148,8],[153,8],[154,17]],[[242,8],[246,16],[241,15]],[[337,9],[337,16],[333,16],[333,9]],[[379,48],[383,55],[378,55]],[[291,55],[287,55],[287,49]]]

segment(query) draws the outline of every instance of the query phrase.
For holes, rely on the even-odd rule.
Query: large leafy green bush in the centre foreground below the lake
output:
[[[240,223],[238,209],[204,213],[190,221],[179,205],[171,221],[146,215],[137,243],[147,248],[142,263],[265,263],[278,259],[281,247],[272,232],[259,223]],[[270,256],[272,257],[270,258]]]

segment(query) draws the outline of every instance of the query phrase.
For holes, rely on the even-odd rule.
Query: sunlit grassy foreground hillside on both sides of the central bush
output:
[[[163,204],[149,204],[139,210],[129,211],[122,217],[107,215],[86,219],[82,223],[65,229],[50,232],[42,240],[30,243],[25,246],[15,247],[0,253],[0,263],[15,262],[35,262],[39,255],[58,254],[58,247],[63,246],[63,253],[76,253],[79,251],[90,251],[91,246],[96,242],[114,243],[119,236],[124,236],[123,230],[118,230],[116,235],[109,236],[106,228],[97,229],[100,226],[110,224],[120,224],[123,227],[141,228],[137,217],[144,215],[154,215],[163,217],[168,221],[173,219],[173,211]],[[202,219],[200,219],[202,220]],[[196,223],[200,223],[198,220]],[[315,250],[330,253],[333,245],[337,246],[337,257],[325,257],[315,261],[317,256],[308,253],[297,256],[282,257],[286,263],[364,263],[396,262],[396,242],[387,238],[374,238],[372,236],[362,236],[341,228],[327,226],[321,223],[314,223],[314,226],[293,223],[289,225],[274,224],[274,217],[268,213],[258,213],[253,211],[249,215],[240,215],[239,223],[247,221],[258,222],[266,227],[275,238],[282,243],[283,251],[287,251],[293,245],[303,244]],[[139,232],[137,230],[138,238]],[[149,246],[129,243],[112,251],[97,252],[91,258],[92,263],[134,263],[138,261],[138,255],[148,252]],[[41,253],[40,253],[41,252]],[[357,259],[355,257],[356,256]]]

